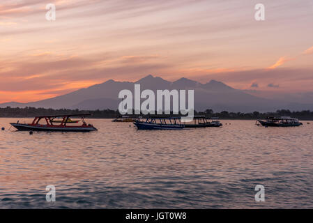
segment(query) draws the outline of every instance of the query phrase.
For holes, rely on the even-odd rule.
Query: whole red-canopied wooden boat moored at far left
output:
[[[79,117],[82,120],[82,125],[68,125],[68,119],[72,116]],[[85,116],[90,116],[90,114],[65,114],[56,116],[37,116],[33,119],[32,123],[22,124],[22,123],[10,123],[17,130],[20,131],[45,131],[45,132],[91,132],[97,131],[95,127],[91,124],[86,124],[84,121]],[[55,118],[62,118],[60,124],[55,125]],[[40,121],[44,123],[41,124]]]

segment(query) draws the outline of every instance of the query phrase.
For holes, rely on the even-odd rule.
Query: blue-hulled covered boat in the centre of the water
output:
[[[138,130],[181,130],[185,125],[178,118],[146,118],[146,121],[136,121]]]

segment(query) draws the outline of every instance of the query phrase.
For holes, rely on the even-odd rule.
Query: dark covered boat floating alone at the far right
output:
[[[256,122],[257,125],[261,124],[263,126],[273,126],[273,127],[293,127],[293,126],[300,126],[303,123],[300,123],[297,118],[291,118],[287,116],[283,116],[280,118],[275,117],[268,117],[265,121],[258,120]]]

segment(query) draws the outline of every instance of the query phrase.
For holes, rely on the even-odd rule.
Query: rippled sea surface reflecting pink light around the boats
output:
[[[0,118],[0,208],[313,208],[312,122],[138,131],[89,120],[98,132],[29,135],[12,121]]]

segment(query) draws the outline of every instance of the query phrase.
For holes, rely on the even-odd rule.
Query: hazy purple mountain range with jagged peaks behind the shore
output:
[[[290,109],[300,111],[305,109],[313,110],[312,104],[270,100],[251,95],[243,90],[227,86],[222,82],[211,80],[206,84],[181,78],[175,82],[169,82],[161,77],[148,75],[137,82],[116,82],[109,79],[102,84],[96,84],[86,89],[79,89],[65,95],[60,95],[46,100],[36,102],[20,103],[7,102],[0,104],[0,107],[43,107],[53,109],[114,109],[118,108],[121,100],[119,92],[123,89],[134,91],[134,84],[140,84],[141,90],[177,89],[194,90],[194,109],[204,111],[213,109],[215,112],[274,112],[277,109]],[[155,94],[156,95],[156,94]]]

